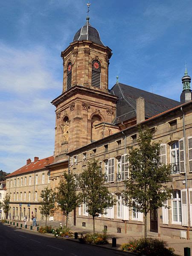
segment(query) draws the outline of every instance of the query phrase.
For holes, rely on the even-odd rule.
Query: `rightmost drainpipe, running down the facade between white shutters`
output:
[[[185,188],[187,192],[187,212],[188,212],[188,227],[187,227],[187,240],[189,240],[189,223],[190,223],[190,213],[189,213],[189,193],[187,189],[187,163],[186,163],[186,132],[185,132],[185,113],[183,112],[183,108],[181,107],[180,110],[183,113],[183,137],[184,137],[184,149],[185,149],[185,154],[184,154],[184,160],[185,160]]]

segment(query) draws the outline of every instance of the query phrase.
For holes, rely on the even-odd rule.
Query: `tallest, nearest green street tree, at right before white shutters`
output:
[[[134,207],[145,215],[145,238],[147,237],[147,214],[163,206],[171,198],[170,165],[160,163],[160,143],[152,141],[152,131],[139,128],[138,148],[129,151],[129,179],[122,193],[125,205]]]

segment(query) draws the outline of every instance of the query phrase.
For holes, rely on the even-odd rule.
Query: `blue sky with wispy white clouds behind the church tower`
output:
[[[86,22],[87,0],[6,0],[0,8],[0,169],[54,151],[61,51]],[[191,0],[91,0],[90,24],[113,50],[119,82],[175,100],[192,75]]]

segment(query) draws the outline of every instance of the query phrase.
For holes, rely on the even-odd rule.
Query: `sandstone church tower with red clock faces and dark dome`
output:
[[[63,89],[52,101],[56,107],[55,162],[67,160],[67,152],[119,131],[112,125],[117,97],[108,92],[111,55],[89,17],[61,52]]]

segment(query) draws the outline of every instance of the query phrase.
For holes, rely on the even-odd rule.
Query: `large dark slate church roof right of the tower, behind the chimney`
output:
[[[121,83],[116,83],[111,88],[110,93],[119,97],[116,105],[116,119],[113,124],[136,117],[136,99],[139,97],[145,99],[145,118],[150,118],[180,105],[180,102],[173,99]]]

